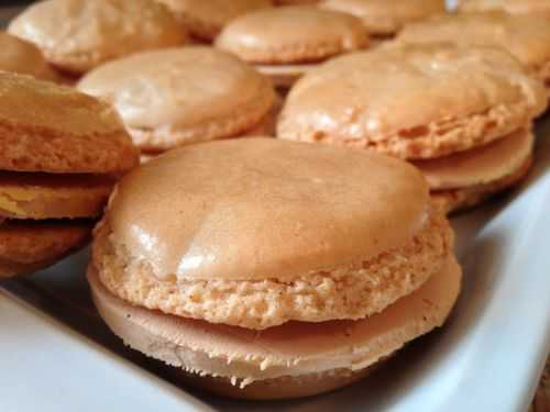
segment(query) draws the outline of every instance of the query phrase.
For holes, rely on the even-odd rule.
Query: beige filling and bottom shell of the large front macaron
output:
[[[92,266],[88,270],[88,281],[100,315],[132,348],[197,374],[197,379],[205,376],[227,378],[238,388],[254,388],[256,382],[268,386],[270,381],[276,386],[276,380],[283,377],[289,377],[290,381],[305,378],[305,382],[314,375],[321,377],[322,383],[316,388],[306,383],[302,390],[295,392],[290,389],[288,393],[278,391],[277,398],[292,398],[348,385],[405,343],[440,326],[459,294],[461,270],[450,257],[444,270],[433,275],[418,290],[382,313],[361,321],[288,322],[262,332],[132,305],[111,294]],[[330,374],[333,378],[322,378]],[[271,398],[262,393],[260,390],[260,394],[253,397]],[[245,392],[243,397],[248,397]]]

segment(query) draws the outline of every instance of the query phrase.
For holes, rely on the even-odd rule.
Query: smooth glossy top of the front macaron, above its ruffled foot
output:
[[[409,242],[428,203],[424,178],[400,160],[248,138],[133,170],[106,221],[111,242],[160,278],[292,279]]]

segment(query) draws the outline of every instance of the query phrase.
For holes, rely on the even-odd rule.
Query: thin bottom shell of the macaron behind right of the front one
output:
[[[435,202],[448,214],[479,205],[492,196],[519,185],[529,174],[532,156],[521,167],[496,181],[464,189],[438,190],[431,193]]]

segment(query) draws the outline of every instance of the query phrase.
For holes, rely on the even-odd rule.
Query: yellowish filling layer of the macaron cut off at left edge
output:
[[[10,219],[96,218],[114,178],[0,171],[0,215]]]

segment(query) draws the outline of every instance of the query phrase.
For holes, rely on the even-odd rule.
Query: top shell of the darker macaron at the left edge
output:
[[[116,110],[73,88],[0,71],[0,169],[125,171],[138,153]]]

